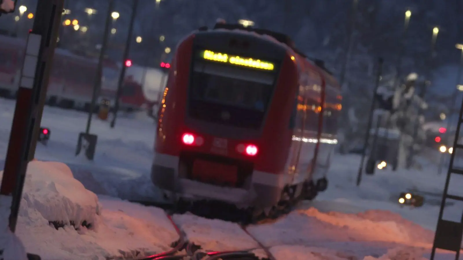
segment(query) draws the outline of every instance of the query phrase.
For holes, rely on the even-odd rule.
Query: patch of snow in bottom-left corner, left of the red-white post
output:
[[[11,197],[0,195],[0,260],[27,260],[21,240],[8,228]]]

